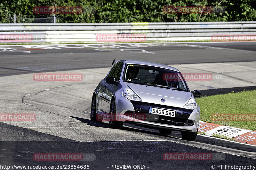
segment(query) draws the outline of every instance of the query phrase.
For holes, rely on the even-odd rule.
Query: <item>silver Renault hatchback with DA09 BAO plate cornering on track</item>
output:
[[[159,129],[170,135],[181,131],[182,139],[194,141],[200,107],[179,70],[158,63],[136,60],[113,61],[106,78],[92,95],[91,120],[107,120],[110,127],[124,122]]]

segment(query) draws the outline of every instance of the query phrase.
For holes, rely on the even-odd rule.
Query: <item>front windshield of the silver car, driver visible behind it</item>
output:
[[[124,70],[124,81],[187,91],[186,83],[180,72],[148,65],[127,64]]]

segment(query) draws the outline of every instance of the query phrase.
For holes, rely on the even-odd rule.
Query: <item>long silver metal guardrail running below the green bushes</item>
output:
[[[96,37],[99,34],[143,34],[146,37],[144,42],[186,41],[211,40],[212,35],[218,34],[256,35],[256,21],[178,23],[25,23],[0,24],[0,31],[0,43],[7,43],[3,40],[4,35],[13,34],[23,34],[23,36],[26,34],[32,36],[32,41],[29,41],[30,43],[98,42]],[[12,41],[8,41],[8,43],[10,42]]]

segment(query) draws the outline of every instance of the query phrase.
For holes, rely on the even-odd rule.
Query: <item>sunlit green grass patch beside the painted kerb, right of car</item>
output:
[[[204,96],[196,99],[200,106],[200,120],[256,131],[255,121],[213,121],[212,114],[256,114],[256,90]]]

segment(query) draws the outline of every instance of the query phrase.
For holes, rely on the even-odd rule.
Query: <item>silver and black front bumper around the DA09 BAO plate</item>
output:
[[[149,107],[173,110],[176,114],[175,117],[150,114]],[[141,101],[132,101],[122,96],[116,99],[116,113],[118,113],[118,117],[121,117],[121,119],[119,118],[118,120],[127,123],[153,129],[164,128],[176,131],[196,132],[199,123],[200,107],[197,105],[194,110],[190,110]],[[143,116],[142,119],[141,116]]]

